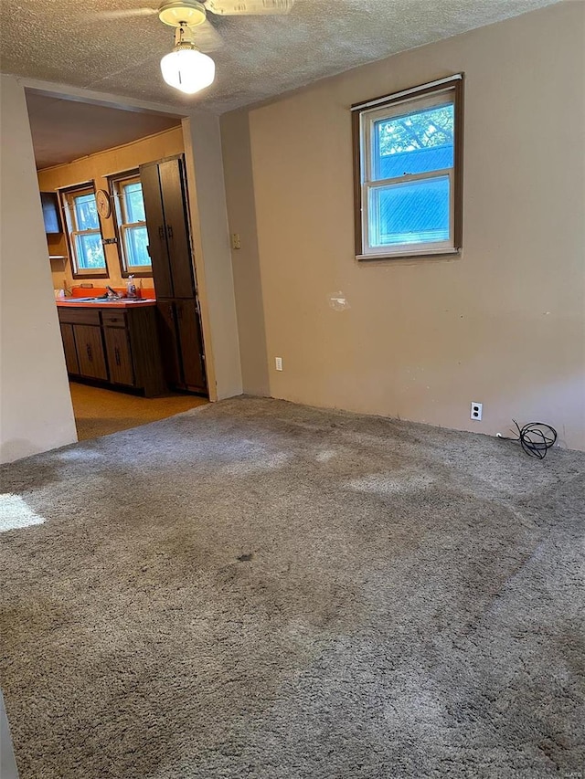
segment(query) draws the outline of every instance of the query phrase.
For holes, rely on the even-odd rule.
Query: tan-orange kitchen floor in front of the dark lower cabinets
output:
[[[141,397],[79,382],[70,382],[69,390],[80,441],[110,436],[208,403],[207,398],[198,395],[169,392]]]

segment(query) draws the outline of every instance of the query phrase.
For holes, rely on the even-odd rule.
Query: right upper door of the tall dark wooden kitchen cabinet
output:
[[[195,295],[191,241],[186,210],[186,188],[181,160],[159,163],[161,193],[165,212],[168,258],[173,279],[174,298],[192,298]],[[154,279],[157,295],[158,284]]]

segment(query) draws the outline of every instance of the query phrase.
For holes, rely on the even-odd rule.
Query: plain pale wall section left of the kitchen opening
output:
[[[1,77],[0,460],[77,440],[24,89]]]

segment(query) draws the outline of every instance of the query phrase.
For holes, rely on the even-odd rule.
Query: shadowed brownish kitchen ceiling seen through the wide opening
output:
[[[120,111],[30,92],[27,107],[37,169],[70,163],[181,123],[178,117]]]

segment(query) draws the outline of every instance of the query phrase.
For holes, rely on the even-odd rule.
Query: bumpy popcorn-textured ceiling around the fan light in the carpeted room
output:
[[[141,0],[0,3],[4,73],[140,100],[223,112],[408,48],[557,0],[296,0],[288,16],[208,17],[224,41],[216,82],[186,97],[160,58],[173,31],[157,16],[103,18]]]

